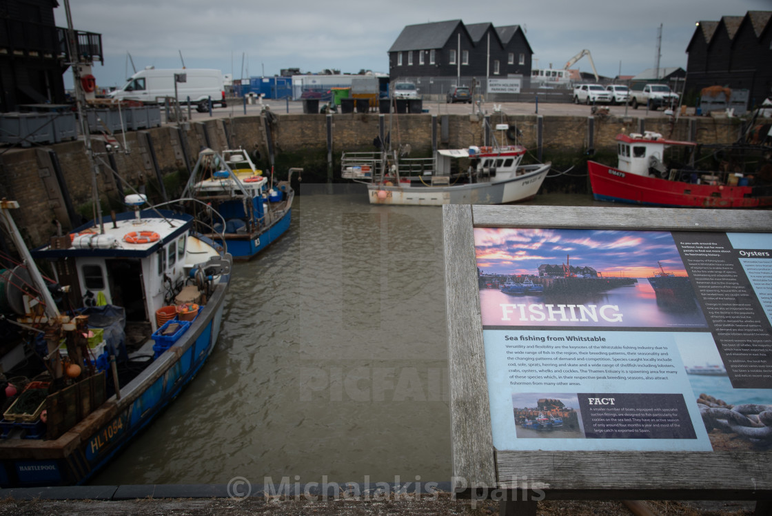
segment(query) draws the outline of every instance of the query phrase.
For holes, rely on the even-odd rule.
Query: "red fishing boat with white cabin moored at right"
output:
[[[587,161],[594,199],[639,205],[688,208],[761,208],[772,205],[772,185],[752,184],[733,171],[674,168],[664,161],[666,148],[692,152],[696,143],[662,134],[618,134],[618,165]]]

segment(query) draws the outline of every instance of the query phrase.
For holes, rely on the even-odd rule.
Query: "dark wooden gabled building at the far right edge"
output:
[[[749,107],[772,96],[772,11],[698,22],[686,53],[687,100],[711,86],[748,90]]]

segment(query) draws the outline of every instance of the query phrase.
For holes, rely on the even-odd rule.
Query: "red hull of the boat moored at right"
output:
[[[683,208],[759,208],[772,197],[753,198],[750,186],[696,185],[631,174],[587,161],[592,195],[599,201]]]

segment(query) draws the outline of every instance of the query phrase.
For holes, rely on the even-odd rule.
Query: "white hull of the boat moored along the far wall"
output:
[[[523,175],[506,181],[465,185],[414,186],[367,185],[371,204],[441,206],[445,204],[506,204],[533,198],[539,191],[550,164],[524,165]]]

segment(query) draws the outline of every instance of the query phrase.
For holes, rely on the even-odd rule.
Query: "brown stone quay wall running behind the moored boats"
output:
[[[501,123],[516,127],[517,143],[533,156],[541,141],[545,161],[550,154],[588,154],[589,148],[613,152],[615,136],[622,131],[657,131],[675,140],[730,144],[743,130],[742,122],[735,118],[714,117],[674,121],[669,117],[491,114],[489,121],[490,127]],[[111,209],[125,209],[122,192],[131,193],[129,185],[147,193],[154,203],[164,200],[164,192],[174,199],[185,186],[198,151],[206,147],[244,148],[263,169],[270,168],[273,156],[277,178],[285,177],[286,167],[300,166],[306,168],[305,182],[339,181],[340,153],[376,151],[374,140],[381,134],[391,134],[392,148],[409,149],[411,155],[420,157],[431,155],[434,142],[438,148],[482,144],[484,127],[482,117],[469,114],[271,113],[93,136],[92,147],[97,154],[97,190],[103,213],[109,217]],[[501,135],[496,137],[500,141]],[[117,144],[117,150],[108,151],[107,144]],[[22,205],[13,215],[30,246],[47,243],[56,234],[55,220],[67,231],[91,219],[93,174],[83,141],[0,148],[0,196]]]

